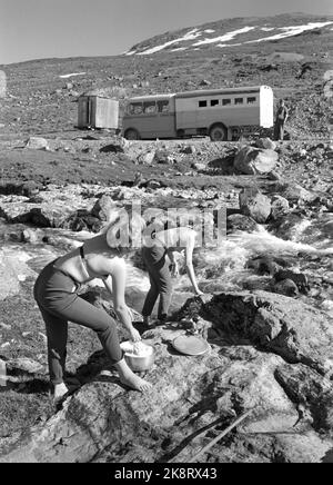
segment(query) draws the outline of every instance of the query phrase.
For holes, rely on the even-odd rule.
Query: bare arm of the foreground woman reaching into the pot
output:
[[[113,261],[111,277],[109,276],[104,280],[104,286],[112,295],[114,310],[120,321],[130,333],[131,339],[133,342],[138,342],[141,340],[141,337],[139,331],[132,325],[131,314],[124,299],[125,277],[125,264],[123,263],[123,260],[120,260],[119,263]]]

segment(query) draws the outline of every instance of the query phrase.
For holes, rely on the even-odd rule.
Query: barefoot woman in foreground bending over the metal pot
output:
[[[117,324],[104,310],[85,301],[78,295],[82,284],[101,278],[110,291],[114,310],[133,342],[141,339],[132,325],[131,311],[125,305],[125,263],[123,250],[115,242],[119,219],[102,234],[88,239],[83,246],[50,263],[39,275],[34,285],[34,298],[47,327],[50,380],[54,400],[68,393],[64,383],[68,321],[94,330],[120,375],[122,384],[144,392],[147,380],[132,373],[119,345]],[[133,228],[132,228],[133,229]]]

